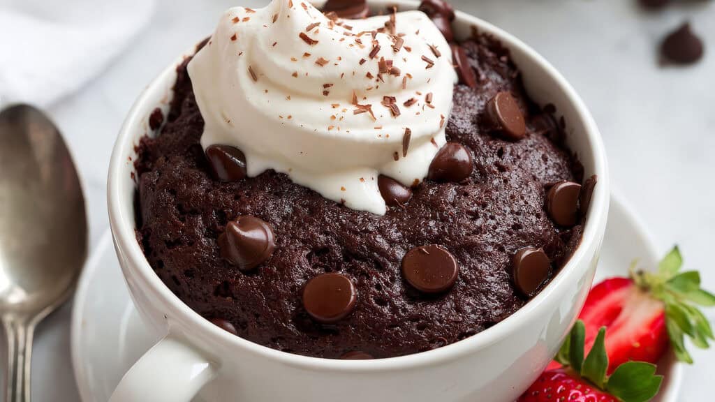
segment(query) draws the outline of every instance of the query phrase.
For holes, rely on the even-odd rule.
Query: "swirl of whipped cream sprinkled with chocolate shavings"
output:
[[[347,20],[300,0],[221,17],[188,66],[201,143],[235,146],[355,210],[385,213],[378,175],[411,186],[445,144],[457,75],[421,11]]]

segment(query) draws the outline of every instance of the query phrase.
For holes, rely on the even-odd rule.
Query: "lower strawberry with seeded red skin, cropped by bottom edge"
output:
[[[565,368],[542,373],[517,402],[645,402],[656,396],[663,381],[654,375],[656,366],[630,361],[606,376],[606,328],[598,330],[584,359],[586,333],[578,320],[557,356]]]

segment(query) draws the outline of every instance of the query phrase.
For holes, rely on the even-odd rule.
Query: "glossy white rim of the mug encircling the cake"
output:
[[[371,6],[388,6],[397,5],[407,9],[415,9],[417,3],[410,0],[368,0]],[[322,1],[316,1],[322,3]],[[156,107],[156,104],[147,104],[149,102],[149,94],[156,91],[159,84],[172,77],[172,73],[176,70],[177,65],[182,62],[184,55],[174,60],[169,67],[164,69],[152,82],[144,89],[137,97],[132,109],[127,114],[124,120],[122,129],[119,131],[119,136],[114,144],[112,157],[109,165],[109,177],[107,184],[107,202],[109,207],[109,221],[112,228],[114,242],[119,249],[122,249],[129,259],[129,263],[137,267],[136,272],[139,275],[139,280],[149,285],[157,295],[159,295],[167,305],[169,305],[174,313],[181,315],[184,320],[192,320],[195,328],[212,338],[217,338],[222,343],[233,344],[237,348],[244,348],[257,356],[270,358],[275,361],[280,361],[290,366],[299,366],[308,369],[330,369],[334,371],[383,371],[395,370],[400,368],[415,368],[417,366],[431,366],[440,364],[445,361],[450,361],[464,354],[468,354],[475,350],[480,350],[486,346],[495,343],[498,339],[503,338],[506,333],[511,333],[517,330],[520,325],[520,320],[528,320],[530,315],[536,314],[544,301],[554,297],[558,288],[564,283],[572,281],[573,275],[577,275],[576,265],[582,263],[582,260],[587,257],[588,247],[593,242],[599,242],[598,236],[601,232],[601,227],[606,224],[606,213],[608,212],[608,165],[606,162],[606,152],[603,147],[601,134],[598,132],[596,122],[593,120],[591,113],[586,108],[586,105],[578,96],[576,90],[571,87],[561,73],[556,70],[549,62],[546,61],[530,46],[526,45],[516,36],[509,34],[506,31],[488,23],[478,17],[466,14],[462,11],[455,11],[455,23],[465,24],[467,26],[475,26],[480,32],[486,32],[494,36],[498,41],[501,41],[508,49],[518,49],[526,58],[531,59],[531,62],[538,64],[560,87],[565,98],[576,110],[576,115],[583,126],[585,132],[578,135],[586,137],[588,148],[593,158],[593,172],[598,175],[598,186],[593,192],[591,205],[588,210],[586,225],[584,225],[581,242],[576,247],[573,255],[564,265],[557,275],[552,278],[551,282],[541,290],[538,295],[529,300],[525,305],[519,308],[515,313],[508,316],[499,323],[496,323],[490,328],[487,328],[480,333],[471,335],[468,338],[459,340],[455,343],[427,350],[419,353],[412,353],[405,356],[397,356],[391,358],[378,358],[372,360],[340,360],[331,358],[317,358],[312,356],[302,356],[294,353],[283,352],[281,350],[272,349],[265,345],[254,343],[250,340],[241,338],[240,336],[227,333],[225,330],[218,328],[216,325],[204,319],[201,315],[189,308],[182,300],[180,300],[169,288],[164,285],[159,276],[154,273],[154,270],[149,265],[147,258],[144,256],[137,237],[135,235],[136,222],[134,215],[127,212],[127,205],[122,197],[122,177],[131,175],[133,171],[133,163],[127,164],[128,155],[134,154],[134,132],[136,127],[140,127],[139,119],[144,117],[144,112],[150,111]],[[192,50],[194,47],[192,46]],[[193,52],[191,52],[193,53]],[[190,53],[189,53],[190,54]],[[126,278],[125,278],[126,279]]]

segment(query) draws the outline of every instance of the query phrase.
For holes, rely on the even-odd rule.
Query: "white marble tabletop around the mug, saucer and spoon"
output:
[[[107,228],[109,154],[134,97],[179,52],[209,34],[220,11],[265,3],[160,0],[151,26],[122,59],[49,109],[84,178],[92,244]],[[661,250],[679,243],[687,267],[701,270],[706,288],[715,290],[709,254],[715,240],[715,2],[683,0],[661,13],[641,11],[636,0],[453,4],[516,34],[563,72],[601,127],[615,190],[636,207]],[[661,68],[656,44],[684,18],[710,45],[706,57],[694,67]],[[79,400],[69,363],[68,306],[43,323],[36,338],[35,401]],[[715,374],[715,352],[694,355],[683,401],[708,399],[699,384]]]

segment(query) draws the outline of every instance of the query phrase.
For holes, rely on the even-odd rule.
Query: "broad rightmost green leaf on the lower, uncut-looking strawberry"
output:
[[[663,376],[656,376],[651,363],[629,361],[621,364],[608,378],[606,391],[623,402],[646,402],[656,396]]]

